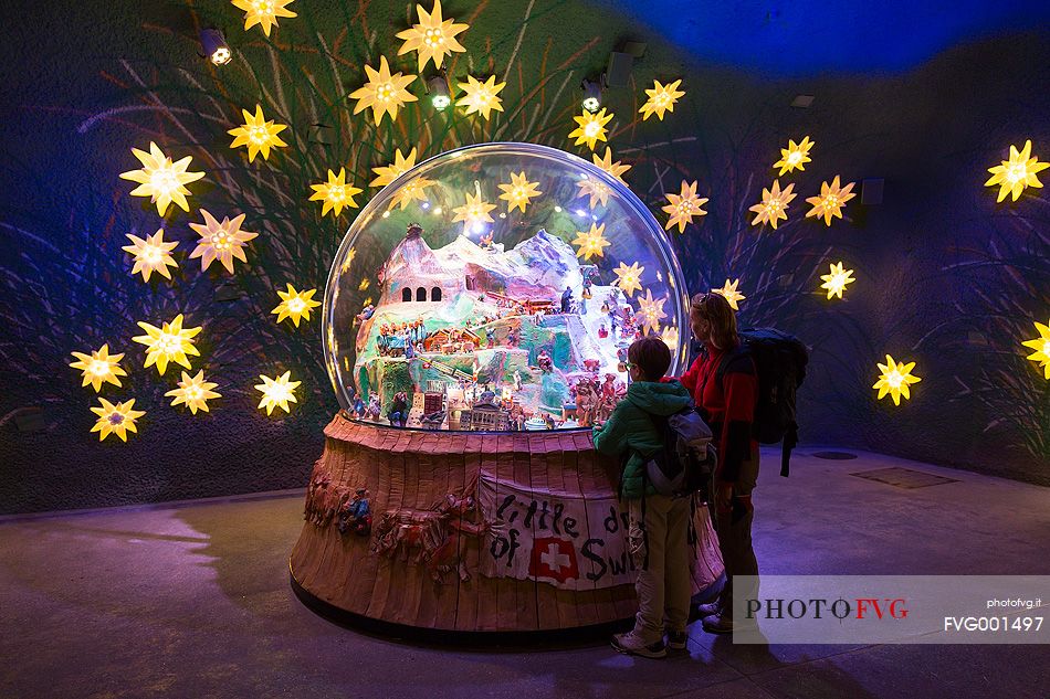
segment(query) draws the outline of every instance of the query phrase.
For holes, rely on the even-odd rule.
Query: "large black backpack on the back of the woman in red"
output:
[[[798,338],[775,328],[741,330],[741,348],[723,358],[715,371],[721,382],[731,357],[749,354],[758,372],[754,435],[760,444],[783,442],[780,475],[790,472],[791,449],[798,444],[795,393],[806,378],[809,351]]]

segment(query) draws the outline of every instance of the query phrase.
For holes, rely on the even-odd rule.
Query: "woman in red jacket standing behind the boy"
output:
[[[725,563],[725,586],[716,602],[701,605],[701,614],[704,631],[728,634],[734,628],[733,578],[755,576],[753,586],[737,591],[747,595],[744,599],[758,591],[758,562],[752,548],[752,490],[758,478],[758,443],[752,422],[758,377],[755,362],[741,348],[736,314],[724,296],[694,296],[690,304],[690,329],[704,349],[681,381],[711,425],[718,448],[710,499]]]

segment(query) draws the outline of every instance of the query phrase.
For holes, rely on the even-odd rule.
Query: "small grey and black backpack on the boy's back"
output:
[[[649,417],[663,448],[645,463],[645,479],[657,493],[671,497],[705,490],[716,460],[707,423],[693,406]]]

